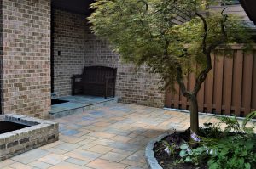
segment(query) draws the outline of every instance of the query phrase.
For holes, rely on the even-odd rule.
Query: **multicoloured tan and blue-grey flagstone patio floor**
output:
[[[217,121],[200,115],[200,123]],[[110,104],[55,119],[60,140],[0,162],[1,169],[148,168],[144,149],[151,138],[189,127],[189,114],[134,104]]]

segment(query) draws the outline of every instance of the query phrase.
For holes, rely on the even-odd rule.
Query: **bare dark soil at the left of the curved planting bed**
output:
[[[185,132],[174,132],[167,136],[165,140],[168,144],[176,145],[177,149],[174,150],[174,155],[168,155],[165,151],[165,145],[162,142],[154,144],[154,157],[157,159],[160,166],[164,169],[207,169],[207,161],[201,161],[201,164],[195,166],[192,163],[177,163],[180,159],[179,146],[184,142],[188,142],[190,138],[190,129]]]

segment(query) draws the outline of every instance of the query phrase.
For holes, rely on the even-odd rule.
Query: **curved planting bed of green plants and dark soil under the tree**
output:
[[[204,124],[199,130],[201,137],[195,140],[189,139],[189,130],[174,132],[154,144],[154,155],[166,169],[256,168],[256,135],[253,132],[256,126],[247,127],[247,122],[255,116],[256,112],[247,115],[241,124],[236,117],[220,117],[217,124]]]

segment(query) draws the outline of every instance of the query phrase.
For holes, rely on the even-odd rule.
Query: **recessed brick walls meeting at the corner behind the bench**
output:
[[[164,93],[158,89],[158,76],[148,73],[146,66],[136,70],[120,61],[108,48],[108,42],[96,38],[86,25],[86,17],[55,10],[54,57],[55,93],[71,94],[71,76],[80,74],[84,65],[105,65],[118,68],[116,95],[121,102],[162,107]],[[61,55],[58,56],[58,51]]]

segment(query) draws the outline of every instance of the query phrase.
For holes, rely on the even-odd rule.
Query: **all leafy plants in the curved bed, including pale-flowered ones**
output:
[[[253,169],[256,168],[256,135],[253,127],[247,127],[248,121],[256,116],[250,113],[239,123],[236,116],[220,117],[220,123],[204,124],[201,128],[200,142],[192,149],[189,144],[180,146],[180,162],[191,162],[198,165],[208,160],[209,169]],[[221,124],[225,125],[221,130]]]

